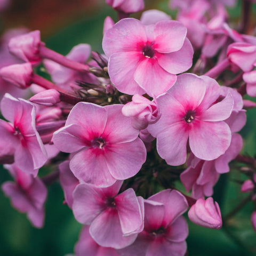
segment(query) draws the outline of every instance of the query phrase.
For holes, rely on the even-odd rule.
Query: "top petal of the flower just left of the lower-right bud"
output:
[[[188,203],[185,196],[183,196],[177,190],[165,189],[153,196],[150,196],[148,199],[162,203],[164,205],[165,213],[163,225],[165,227],[169,226],[170,223],[173,223],[188,209]]]

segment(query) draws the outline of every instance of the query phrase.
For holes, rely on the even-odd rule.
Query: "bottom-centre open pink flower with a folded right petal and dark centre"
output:
[[[73,192],[76,220],[90,225],[92,238],[101,246],[121,249],[143,230],[143,198],[131,188],[117,195],[122,183],[116,181],[107,188],[80,184]]]

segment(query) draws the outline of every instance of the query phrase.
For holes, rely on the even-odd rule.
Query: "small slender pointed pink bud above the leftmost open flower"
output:
[[[55,89],[49,89],[37,93],[29,101],[44,106],[53,106],[60,102],[60,93]]]

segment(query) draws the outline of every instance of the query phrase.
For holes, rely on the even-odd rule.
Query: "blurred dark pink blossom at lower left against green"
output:
[[[47,189],[39,178],[22,172],[17,165],[5,165],[15,182],[6,181],[2,185],[5,195],[10,197],[15,209],[27,213],[33,226],[42,228],[44,224],[44,203]]]

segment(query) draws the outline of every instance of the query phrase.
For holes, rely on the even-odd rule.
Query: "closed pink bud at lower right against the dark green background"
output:
[[[199,198],[188,211],[188,218],[199,226],[220,229],[222,226],[220,207],[213,198]]]

